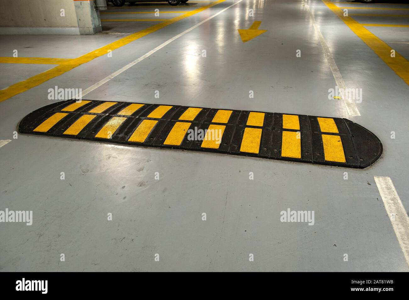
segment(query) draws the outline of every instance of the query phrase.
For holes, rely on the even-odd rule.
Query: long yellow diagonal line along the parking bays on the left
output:
[[[129,36],[126,36],[124,38],[120,38],[119,40],[116,40],[115,42],[112,42],[106,46],[103,46],[101,48],[98,48],[94,51],[91,51],[89,53],[86,53],[82,56],[79,56],[78,58],[74,58],[72,60],[69,60],[67,62],[67,65],[59,65],[57,67],[54,67],[52,69],[49,69],[43,73],[37,74],[36,76],[33,76],[31,78],[28,78],[26,80],[20,81],[16,84],[13,84],[9,86],[6,89],[0,90],[0,102],[13,97],[19,93],[22,93],[24,91],[27,91],[28,89],[31,89],[33,87],[38,86],[39,84],[42,84],[43,82],[46,82],[47,80],[50,80],[54,77],[57,77],[67,71],[70,71],[74,69],[75,67],[78,67],[79,65],[89,62],[90,60],[93,60],[94,58],[106,55],[108,53],[108,50],[114,51],[115,49],[118,49],[119,47],[122,47],[126,44],[129,44],[130,42],[133,42],[139,38],[142,38],[150,33],[153,33],[163,27],[166,27],[170,24],[173,24],[175,22],[178,22],[184,18],[190,17],[195,15],[196,13],[200,13],[210,7],[213,7],[217,4],[220,4],[222,2],[225,2],[226,0],[218,0],[216,2],[212,2],[208,5],[199,7],[197,9],[194,9],[193,11],[187,11],[183,15],[177,16],[175,18],[171,18],[169,20],[166,20],[162,23],[153,25],[149,28],[143,29],[141,31],[135,32],[133,34],[130,34]],[[167,6],[169,7],[169,6]]]

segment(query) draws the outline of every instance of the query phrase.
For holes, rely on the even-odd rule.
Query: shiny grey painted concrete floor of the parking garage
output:
[[[155,5],[188,11],[208,4],[194,3],[110,11],[153,11]],[[0,210],[31,210],[34,219],[31,226],[0,224],[1,271],[408,271],[373,179],[389,176],[409,207],[408,85],[320,0],[243,0],[84,99],[345,117],[383,143],[382,158],[367,169],[43,136],[13,139],[25,115],[52,103],[50,87],[85,90],[233,3],[210,7],[0,102],[0,139],[12,140],[0,148]],[[305,4],[346,84],[362,88],[361,116],[348,116],[342,101],[328,100],[335,80]],[[369,23],[367,18],[356,20]],[[370,18],[409,24],[409,18]],[[243,43],[237,29],[256,20],[267,32]],[[96,36],[0,36],[0,56],[18,49],[21,57],[76,58],[151,25],[103,22],[104,32]],[[409,59],[409,28],[367,28]],[[1,64],[0,86],[51,67]],[[315,224],[280,222],[288,208],[315,211]]]

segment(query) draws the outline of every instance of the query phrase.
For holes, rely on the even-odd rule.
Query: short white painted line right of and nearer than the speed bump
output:
[[[386,176],[375,176],[376,185],[391,220],[393,230],[409,266],[409,217],[402,201],[393,186],[392,180]]]

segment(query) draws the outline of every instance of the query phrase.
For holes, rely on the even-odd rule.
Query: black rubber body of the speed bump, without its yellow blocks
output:
[[[193,121],[179,120],[180,116],[189,108],[186,106],[173,105],[161,118],[148,118],[148,115],[160,105],[144,104],[130,116],[121,116],[118,113],[132,102],[117,102],[103,113],[89,113],[91,109],[106,101],[94,101],[84,104],[75,111],[62,111],[75,100],[61,101],[41,107],[29,113],[21,120],[18,130],[20,133],[40,134],[46,136],[58,136],[65,138],[79,138],[85,140],[97,140],[117,144],[141,145],[151,147],[165,147],[175,149],[189,149],[206,152],[227,153],[294,162],[310,162],[327,164],[331,166],[344,166],[353,168],[366,168],[376,162],[382,155],[382,143],[368,129],[344,118],[332,118],[339,133],[321,132],[317,116],[297,115],[299,117],[299,130],[283,129],[283,114],[264,112],[262,127],[247,125],[250,111],[232,110],[227,123],[213,123],[213,117],[219,109],[202,108]],[[166,104],[167,105],[167,104]],[[229,109],[225,109],[229,110]],[[53,116],[54,113],[67,113],[67,116],[56,122],[47,132],[34,132],[33,130]],[[84,114],[96,115],[76,136],[64,135],[63,132]],[[113,116],[126,117],[126,120],[108,138],[95,138],[95,135]],[[325,117],[328,118],[328,117]],[[130,142],[128,139],[143,120],[157,120],[155,127],[149,133],[144,142]],[[190,140],[186,134],[179,146],[164,145],[166,137],[176,122],[190,122],[189,129],[208,129],[209,125],[225,125],[218,149],[202,148],[202,140]],[[262,129],[258,153],[241,152],[240,146],[245,128]],[[288,158],[281,156],[283,131],[299,131],[301,136],[301,158]],[[340,136],[344,150],[345,162],[331,162],[325,160],[322,134]]]

